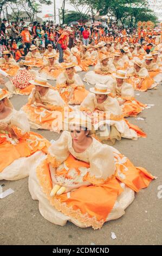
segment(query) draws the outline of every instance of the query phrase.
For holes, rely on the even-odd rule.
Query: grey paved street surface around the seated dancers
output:
[[[83,78],[84,72],[81,77]],[[53,85],[55,82],[53,83]],[[88,89],[88,86],[86,85]],[[0,181],[4,190],[12,188],[15,192],[0,199],[0,244],[1,245],[160,245],[162,243],[162,198],[158,198],[158,186],[162,185],[161,167],[161,127],[162,127],[162,87],[146,93],[135,91],[137,100],[154,104],[138,117],[128,118],[147,133],[147,138],[138,141],[123,139],[115,148],[125,154],[135,166],[145,167],[158,176],[151,185],[135,195],[135,200],[126,209],[125,215],[115,221],[107,222],[101,230],[81,229],[72,223],[64,227],[45,220],[38,211],[38,202],[31,199],[28,191],[28,178],[18,181]],[[27,96],[14,95],[11,98],[16,109],[26,102]],[[38,130],[47,139],[57,139],[50,131]],[[162,196],[162,192],[161,192]],[[111,238],[114,232],[116,239]]]

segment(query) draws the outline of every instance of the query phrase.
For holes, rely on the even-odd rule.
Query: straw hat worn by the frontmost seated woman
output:
[[[70,126],[79,126],[87,128],[87,130],[91,131],[90,133],[93,133],[92,120],[88,117],[88,115],[85,115],[82,112],[70,113],[68,120],[64,121],[64,124],[68,125],[68,130],[70,129]]]

